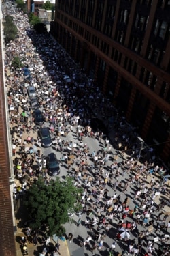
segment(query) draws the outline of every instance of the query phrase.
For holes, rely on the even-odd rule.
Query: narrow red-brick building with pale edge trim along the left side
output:
[[[0,10],[0,255],[15,256],[14,218],[10,193],[11,165],[10,137],[7,127],[7,102],[3,74],[2,14]]]

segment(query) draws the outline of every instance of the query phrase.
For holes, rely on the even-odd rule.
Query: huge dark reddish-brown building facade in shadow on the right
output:
[[[170,160],[170,1],[58,0],[51,33]]]

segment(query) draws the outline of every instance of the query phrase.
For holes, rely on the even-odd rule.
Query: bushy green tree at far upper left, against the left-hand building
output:
[[[14,40],[16,38],[18,30],[16,25],[14,24],[12,16],[5,16],[5,22],[3,23],[3,27],[5,42],[10,42],[10,40]]]

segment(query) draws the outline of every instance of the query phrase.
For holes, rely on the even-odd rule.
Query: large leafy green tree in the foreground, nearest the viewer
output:
[[[64,182],[59,178],[51,180],[46,186],[44,180],[39,178],[28,190],[28,200],[25,202],[29,215],[33,222],[31,228],[39,229],[46,226],[48,236],[63,235],[63,224],[69,221],[68,211],[81,209],[79,203],[82,188],[73,186],[73,180],[69,177]]]

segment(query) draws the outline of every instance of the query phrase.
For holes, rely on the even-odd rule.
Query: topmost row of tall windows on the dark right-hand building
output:
[[[167,0],[162,0],[163,3],[165,3]],[[116,15],[116,3],[112,3],[112,1],[108,1],[108,5],[105,11],[105,20],[103,22],[103,14],[104,14],[104,7],[105,4],[103,1],[97,1],[97,4],[95,5],[95,1],[81,1],[80,3],[77,1],[70,1],[70,3],[67,4],[67,1],[59,1],[61,3],[58,3],[58,6],[61,10],[64,10],[65,12],[69,13],[69,15],[74,16],[74,18],[77,18],[81,20],[83,23],[86,23],[90,27],[94,27],[97,29],[97,31],[101,31],[105,35],[107,35],[109,38],[113,38],[116,40],[116,42],[119,42],[120,44],[124,44],[126,33],[127,33],[127,27],[129,24],[129,17],[130,17],[130,9],[126,9],[126,6],[124,5],[124,8],[120,5],[120,9],[118,11],[118,20],[116,24],[116,31],[113,33],[113,27],[114,27],[114,20]],[[169,4],[169,1],[167,1],[167,4]],[[146,1],[141,0],[139,3],[140,5],[152,5],[152,1]],[[138,5],[137,5],[138,6]],[[134,20],[133,20],[133,26],[131,27],[131,33],[136,38],[137,41],[143,40],[144,35],[148,26],[148,20],[149,20],[149,14],[150,9],[146,13],[143,11],[140,11],[139,6],[137,7],[137,12],[134,14]],[[88,9],[87,9],[88,8]],[[88,10],[88,12],[86,12]],[[160,14],[163,14],[166,11],[166,9],[162,10],[161,12],[156,12],[156,16],[159,16]],[[95,12],[95,14],[94,14]],[[160,15],[161,16],[161,15]],[[168,35],[170,33],[170,26],[169,26],[169,18],[167,15],[164,16],[165,20],[162,20],[162,18],[156,18],[153,23],[153,33],[156,38],[161,38],[162,40],[166,40]],[[167,21],[166,21],[167,19]],[[102,27],[103,22],[103,27]],[[130,33],[128,31],[128,33]],[[137,42],[139,44],[139,47],[137,46],[138,50],[134,49],[137,53],[139,53],[139,49],[141,48],[140,42]],[[161,47],[161,44],[159,44]],[[131,46],[130,46],[131,48]],[[132,47],[133,48],[133,47]],[[136,47],[135,47],[136,48]]]

